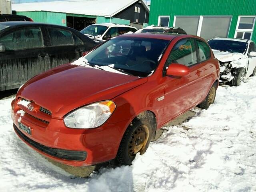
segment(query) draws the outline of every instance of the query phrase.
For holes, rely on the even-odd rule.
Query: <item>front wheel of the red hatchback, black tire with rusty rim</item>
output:
[[[146,152],[154,130],[154,116],[150,112],[145,113],[134,118],[126,129],[116,155],[118,164],[131,165],[138,152],[141,155]],[[142,137],[140,138],[140,136]],[[144,141],[141,140],[142,138]]]

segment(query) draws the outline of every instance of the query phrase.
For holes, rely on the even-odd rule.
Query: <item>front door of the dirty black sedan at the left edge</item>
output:
[[[18,28],[2,34],[0,44],[0,90],[18,88],[49,69],[41,28]]]

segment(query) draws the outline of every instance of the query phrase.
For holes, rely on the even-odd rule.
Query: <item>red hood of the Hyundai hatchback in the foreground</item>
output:
[[[52,117],[89,103],[112,99],[147,82],[138,78],[84,66],[66,64],[30,79],[17,93],[50,110]]]

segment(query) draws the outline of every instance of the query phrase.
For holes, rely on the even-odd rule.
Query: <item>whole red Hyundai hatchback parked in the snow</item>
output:
[[[130,165],[156,129],[214,102],[219,63],[200,37],[125,34],[26,82],[12,101],[16,134],[71,166]]]

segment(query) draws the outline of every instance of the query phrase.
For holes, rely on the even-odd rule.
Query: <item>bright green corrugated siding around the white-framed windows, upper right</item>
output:
[[[232,15],[228,37],[234,38],[238,16],[256,15],[256,0],[151,0],[149,24],[157,25],[158,16]],[[256,41],[256,25],[252,34]]]

